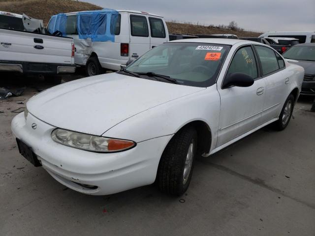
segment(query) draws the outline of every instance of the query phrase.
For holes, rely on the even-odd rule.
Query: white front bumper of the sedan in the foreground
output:
[[[32,129],[36,123],[37,128]],[[140,142],[135,148],[116,153],[95,153],[54,142],[56,128],[29,113],[13,118],[14,136],[32,147],[43,168],[63,185],[85,194],[107,195],[151,184],[160,156],[172,137]]]

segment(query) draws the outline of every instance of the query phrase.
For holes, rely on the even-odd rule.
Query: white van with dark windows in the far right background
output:
[[[315,43],[315,32],[268,32],[259,37],[297,38],[300,43]]]

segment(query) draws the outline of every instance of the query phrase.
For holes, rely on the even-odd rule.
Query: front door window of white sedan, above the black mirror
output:
[[[257,64],[251,46],[241,48],[235,53],[227,70],[227,75],[232,73],[244,73],[253,79],[258,77]]]

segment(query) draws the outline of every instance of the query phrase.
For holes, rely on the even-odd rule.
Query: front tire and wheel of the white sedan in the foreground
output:
[[[192,175],[196,150],[197,132],[192,126],[183,128],[174,135],[164,149],[158,165],[157,183],[161,192],[176,196],[181,196],[186,192]]]

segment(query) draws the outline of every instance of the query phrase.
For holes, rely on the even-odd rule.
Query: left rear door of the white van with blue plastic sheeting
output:
[[[130,57],[137,59],[150,50],[150,29],[145,15],[130,13]]]

